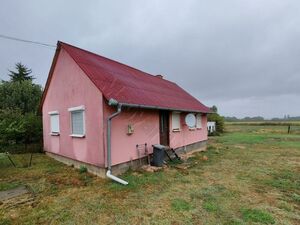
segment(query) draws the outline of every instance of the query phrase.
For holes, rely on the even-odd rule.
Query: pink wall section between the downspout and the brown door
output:
[[[116,109],[104,104],[104,122]],[[134,129],[128,135],[128,125]],[[106,126],[105,126],[106,132]],[[159,114],[156,110],[123,109],[121,114],[112,119],[111,157],[112,165],[138,158],[137,144],[147,143],[149,152],[152,145],[159,143]],[[105,140],[106,146],[106,140]]]

